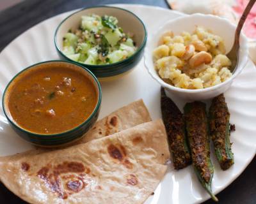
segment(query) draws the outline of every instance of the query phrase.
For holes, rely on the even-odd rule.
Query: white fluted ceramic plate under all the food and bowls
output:
[[[179,17],[180,13],[163,8],[141,5],[118,5],[136,13],[148,29],[148,37],[163,22]],[[0,54],[0,93],[3,95],[4,88],[11,78],[23,68],[36,62],[58,59],[54,48],[54,31],[63,18],[70,12],[32,27],[18,38],[12,41]],[[250,163],[256,153],[256,69],[251,61],[239,77],[234,80],[230,89],[225,93],[228,107],[231,113],[230,122],[236,124],[236,132],[231,135],[234,142],[235,164],[227,171],[221,171],[214,154],[212,161],[215,166],[212,189],[214,193],[220,192],[228,186]],[[161,117],[160,110],[160,87],[159,84],[148,74],[143,65],[143,60],[129,75],[113,82],[102,83],[102,108],[100,118],[117,108],[127,105],[136,99],[143,98],[152,118]],[[173,98],[183,107],[186,101]],[[0,111],[0,156],[15,154],[24,150],[33,149],[33,146],[19,138],[10,128]],[[213,153],[213,152],[212,152]],[[209,198],[196,179],[195,173],[190,167],[175,171],[169,168],[161,184],[157,187],[154,196],[150,196],[147,204],[165,203],[200,203]]]

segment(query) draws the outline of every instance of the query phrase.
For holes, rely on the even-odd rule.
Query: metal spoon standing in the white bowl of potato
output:
[[[237,68],[237,62],[238,62],[238,57],[239,57],[239,37],[240,37],[240,33],[241,33],[241,29],[244,25],[244,22],[248,16],[248,14],[250,13],[250,10],[252,9],[253,4],[255,3],[256,0],[250,0],[249,3],[247,4],[243,15],[241,16],[237,27],[236,27],[236,33],[235,33],[235,41],[233,44],[233,47],[231,48],[230,52],[228,52],[227,57],[230,59],[230,61],[232,62],[232,65],[230,67],[230,71],[232,73],[234,73],[236,71]]]

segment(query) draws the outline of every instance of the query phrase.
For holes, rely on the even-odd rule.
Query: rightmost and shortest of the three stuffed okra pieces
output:
[[[212,99],[209,109],[210,136],[214,144],[215,154],[222,170],[234,164],[234,156],[230,144],[230,113],[223,94]]]

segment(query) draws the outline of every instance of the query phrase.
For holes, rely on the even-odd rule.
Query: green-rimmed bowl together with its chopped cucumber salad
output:
[[[113,6],[83,8],[58,25],[54,44],[61,59],[81,64],[99,80],[112,80],[140,62],[147,41],[134,13]]]

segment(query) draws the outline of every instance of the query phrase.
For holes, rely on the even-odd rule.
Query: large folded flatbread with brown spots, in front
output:
[[[0,158],[0,180],[29,203],[143,203],[170,158],[162,120],[42,154]]]

